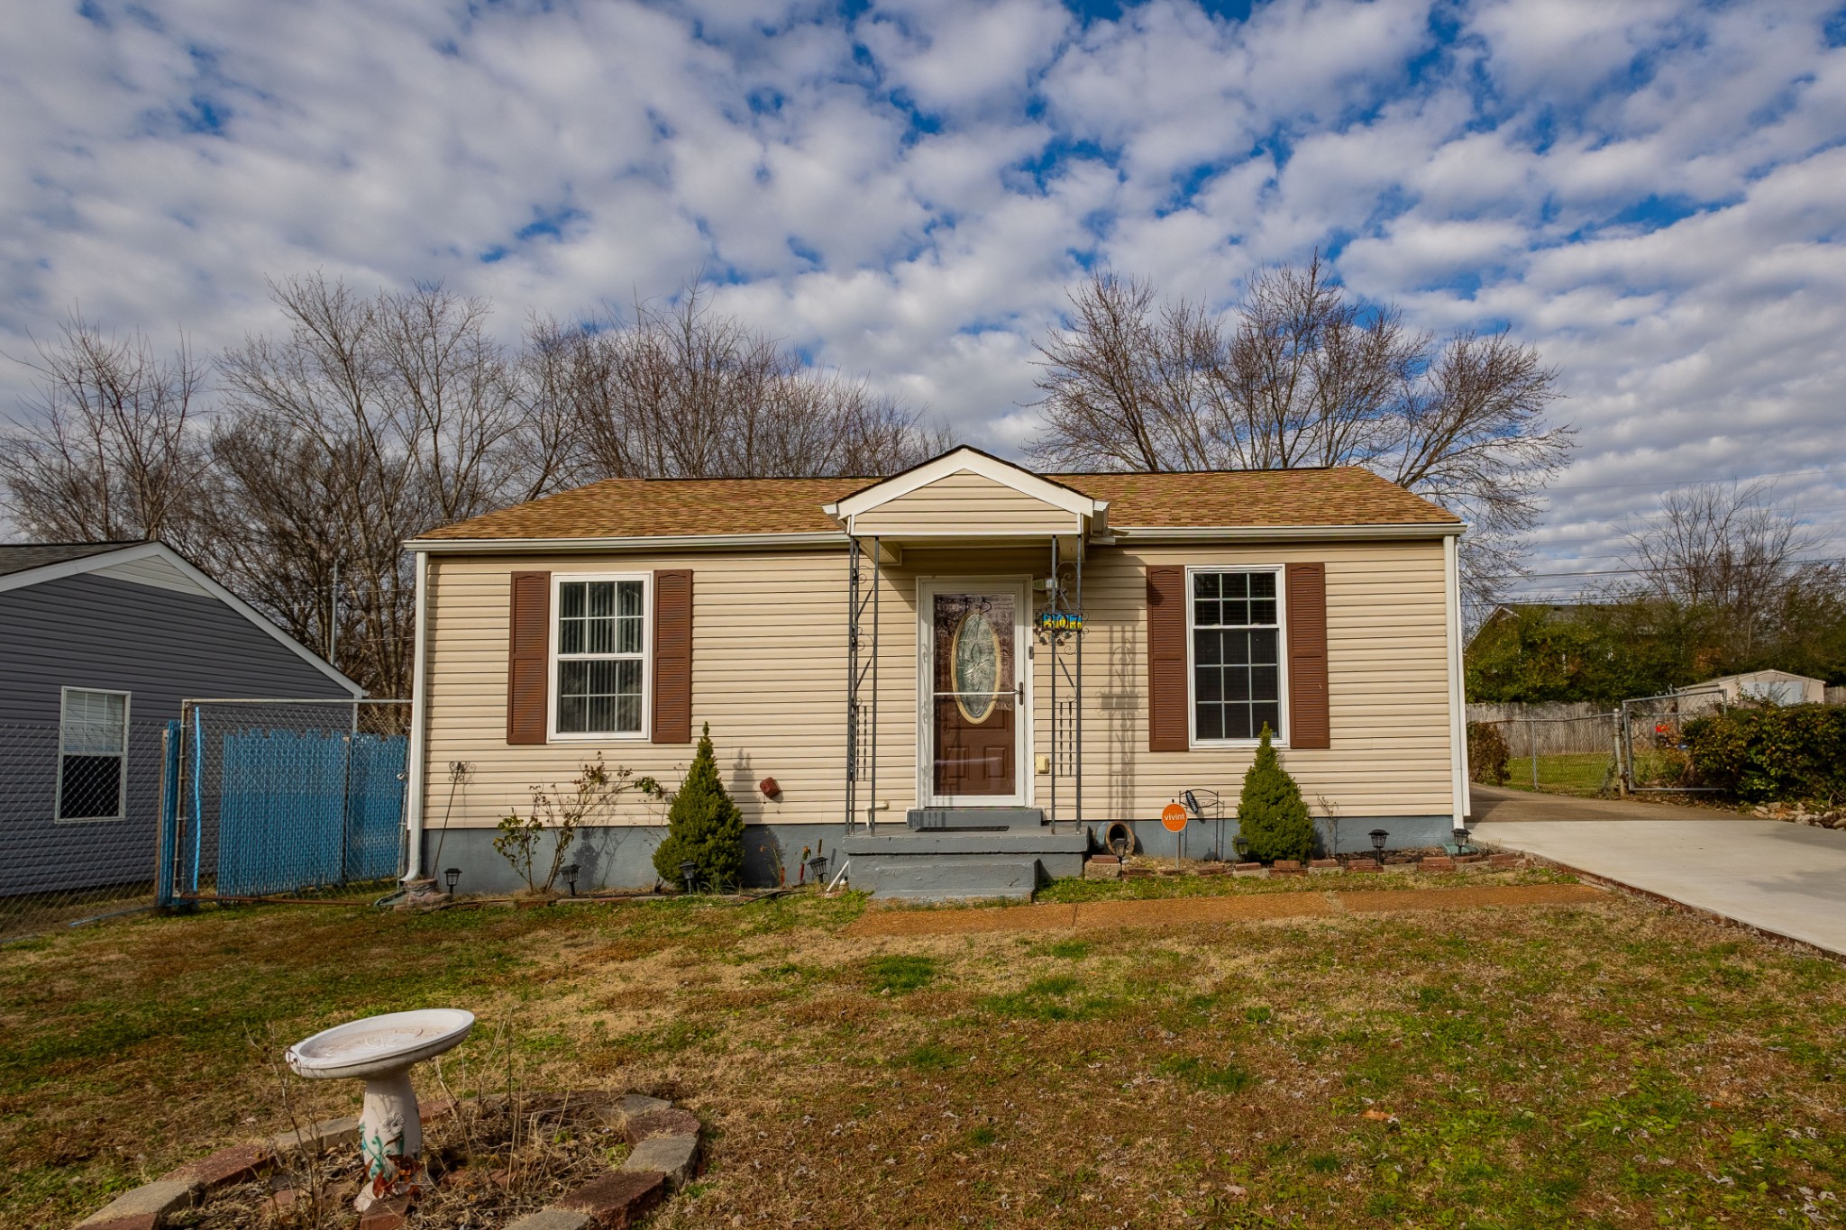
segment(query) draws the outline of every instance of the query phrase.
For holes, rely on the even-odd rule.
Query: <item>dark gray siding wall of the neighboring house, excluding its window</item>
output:
[[[122,821],[54,819],[63,688],[131,693]],[[92,575],[0,594],[0,896],[153,880],[159,727],[240,695],[347,692],[214,597]]]

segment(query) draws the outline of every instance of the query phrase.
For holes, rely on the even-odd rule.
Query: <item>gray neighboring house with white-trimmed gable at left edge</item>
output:
[[[181,701],[358,695],[161,542],[0,546],[0,896],[153,880]]]

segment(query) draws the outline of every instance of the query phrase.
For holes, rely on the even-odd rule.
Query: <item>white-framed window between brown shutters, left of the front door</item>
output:
[[[646,732],[648,577],[557,577],[552,732]]]

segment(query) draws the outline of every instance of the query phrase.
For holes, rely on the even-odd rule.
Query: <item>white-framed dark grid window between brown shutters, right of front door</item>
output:
[[[1276,570],[1193,570],[1193,741],[1283,738]]]

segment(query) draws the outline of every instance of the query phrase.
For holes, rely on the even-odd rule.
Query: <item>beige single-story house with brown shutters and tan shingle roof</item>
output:
[[[515,885],[495,824],[596,754],[676,786],[709,723],[748,876],[1030,891],[1133,834],[1226,854],[1266,725],[1325,848],[1468,813],[1456,538],[1357,467],[1036,474],[975,448],[884,479],[607,479],[415,551],[412,872]],[[1217,800],[1217,802],[1213,802]],[[646,885],[665,808],[580,832]],[[1113,828],[1121,824],[1122,828]]]

